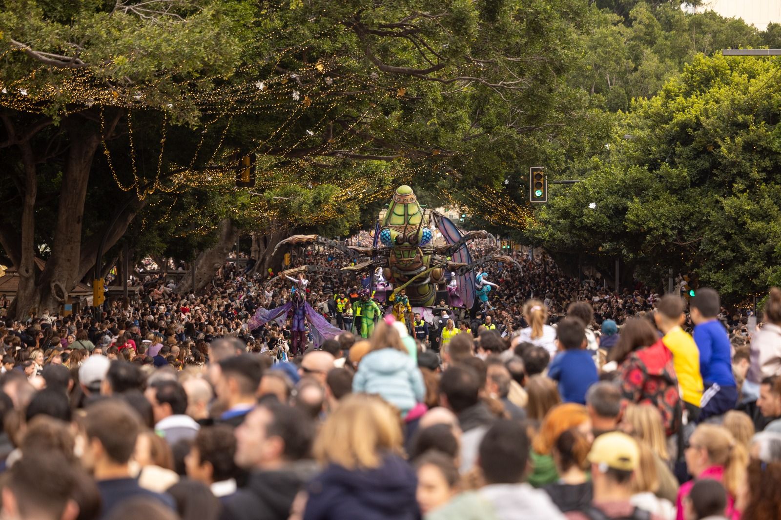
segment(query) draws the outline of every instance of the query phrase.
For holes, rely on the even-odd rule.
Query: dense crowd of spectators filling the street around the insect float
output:
[[[781,290],[749,330],[708,288],[519,262],[489,269],[490,310],[367,338],[344,321],[360,281],[235,264],[204,294],[148,276],[133,301],[5,319],[2,518],[781,518]],[[248,326],[295,290],[342,319],[296,355],[289,321]]]

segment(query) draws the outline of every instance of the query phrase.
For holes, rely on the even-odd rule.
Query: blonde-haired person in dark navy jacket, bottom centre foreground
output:
[[[315,440],[325,469],[309,483],[304,520],[419,518],[403,438],[398,414],[380,397],[344,397]]]

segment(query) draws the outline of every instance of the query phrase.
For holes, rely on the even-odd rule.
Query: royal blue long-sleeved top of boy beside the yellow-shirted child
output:
[[[700,351],[700,372],[705,385],[735,386],[732,347],[727,331],[718,319],[694,327],[694,343]]]

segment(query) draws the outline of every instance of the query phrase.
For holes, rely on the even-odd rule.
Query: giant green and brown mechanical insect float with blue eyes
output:
[[[444,244],[433,244],[434,229],[442,234]],[[377,287],[378,281],[383,286],[381,288],[393,287],[392,293],[387,297],[389,303],[394,302],[397,297],[403,297],[400,294],[403,289],[410,305],[430,308],[435,304],[437,285],[444,283],[446,272],[451,272],[448,286],[451,305],[472,309],[476,300],[486,302],[484,295],[490,290],[490,285],[496,287],[495,284],[488,283],[482,275],[476,277],[475,271],[482,270],[490,262],[505,262],[520,269],[518,262],[505,255],[488,255],[473,261],[467,243],[478,238],[493,237],[486,231],[469,231],[462,234],[448,217],[430,208],[421,207],[411,187],[400,186],[387,208],[380,212],[371,248],[345,246],[318,235],[294,235],[276,244],[274,249],[276,252],[288,244],[319,244],[341,251],[351,258],[351,261],[355,261],[355,265],[341,269],[302,265],[280,272],[266,283],[266,287],[276,280],[289,279],[303,272],[315,276],[370,272],[372,290]],[[270,321],[269,316],[263,315],[261,319],[254,319],[253,324],[259,325],[267,321]]]

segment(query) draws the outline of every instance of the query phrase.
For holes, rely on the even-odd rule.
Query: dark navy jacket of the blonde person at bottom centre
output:
[[[374,469],[329,465],[309,483],[304,520],[417,520],[415,472],[398,455]]]

